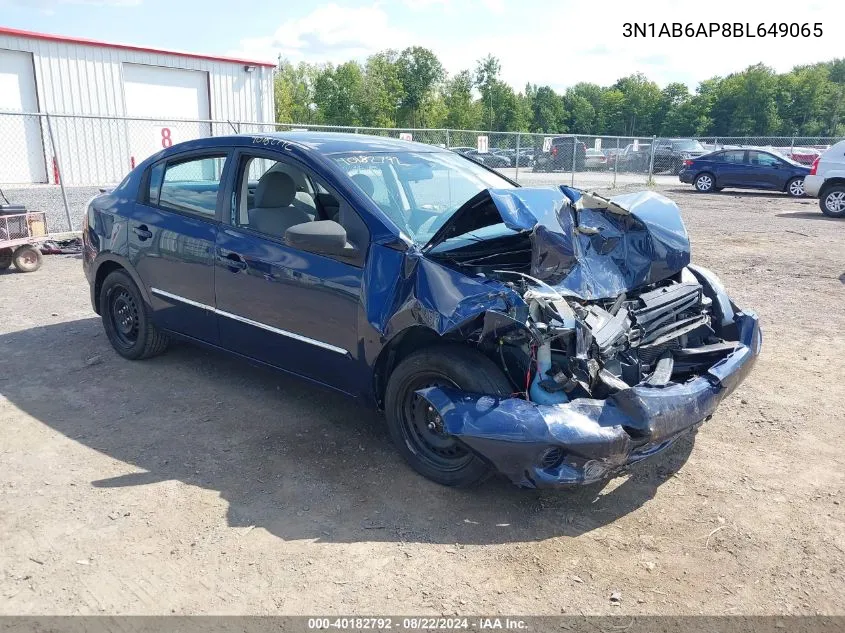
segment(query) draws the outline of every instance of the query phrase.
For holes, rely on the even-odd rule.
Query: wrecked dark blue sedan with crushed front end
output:
[[[117,353],[185,339],[366,400],[451,486],[613,477],[709,419],[761,346],[667,198],[519,187],[419,143],[174,145],[91,201],[83,239]]]

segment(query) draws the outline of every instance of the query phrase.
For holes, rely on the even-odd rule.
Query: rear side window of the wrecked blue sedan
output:
[[[154,165],[150,170],[150,204],[213,218],[225,165],[225,156],[203,156]]]

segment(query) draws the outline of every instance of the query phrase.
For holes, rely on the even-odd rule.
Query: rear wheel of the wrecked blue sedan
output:
[[[103,281],[100,314],[109,342],[124,358],[150,358],[167,349],[167,336],[153,324],[141,292],[125,270],[115,270]]]

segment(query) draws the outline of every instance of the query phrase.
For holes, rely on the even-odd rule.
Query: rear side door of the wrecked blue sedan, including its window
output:
[[[208,343],[214,317],[214,245],[227,152],[194,152],[151,166],[128,218],[129,256],[161,327]]]

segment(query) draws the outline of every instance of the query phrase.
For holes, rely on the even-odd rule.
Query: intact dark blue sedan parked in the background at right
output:
[[[809,167],[774,152],[725,149],[685,160],[678,178],[702,193],[735,187],[785,191],[800,198],[804,195],[804,176],[809,173]]]

